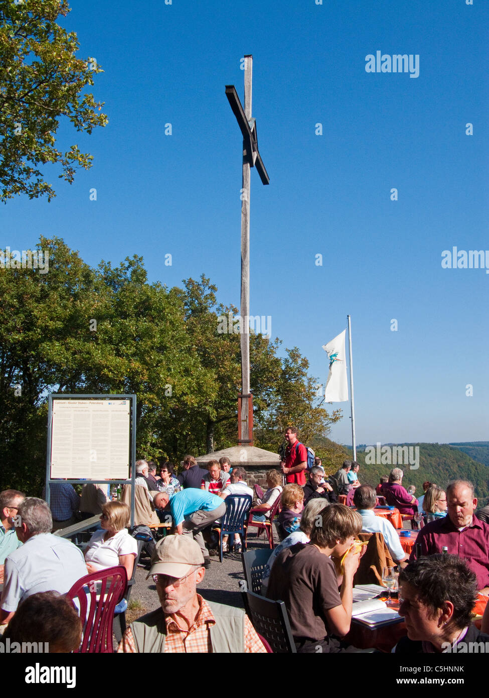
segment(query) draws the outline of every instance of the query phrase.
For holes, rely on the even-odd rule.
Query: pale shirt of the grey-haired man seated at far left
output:
[[[0,608],[16,611],[22,600],[38,591],[66,594],[86,574],[79,548],[52,533],[37,533],[5,560]]]

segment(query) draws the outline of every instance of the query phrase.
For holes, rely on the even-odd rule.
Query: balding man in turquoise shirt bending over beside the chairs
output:
[[[170,503],[175,533],[179,535],[191,533],[193,535],[194,540],[202,550],[204,567],[209,568],[211,558],[204,543],[202,530],[224,516],[226,512],[225,502],[215,494],[204,489],[195,489],[195,487],[183,489],[171,497],[166,492],[158,492],[153,497],[155,509],[165,509],[168,503]]]

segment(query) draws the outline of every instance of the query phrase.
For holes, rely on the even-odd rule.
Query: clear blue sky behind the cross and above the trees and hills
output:
[[[251,313],[323,384],[322,345],[352,315],[357,443],[487,440],[489,274],[441,265],[453,246],[489,250],[487,4],[70,6],[63,24],[105,70],[93,94],[110,121],[91,136],[61,125],[61,149],[77,143],[93,167],[72,186],[53,171],[49,204],[1,207],[1,248],[58,235],[91,265],[137,253],[150,281],[203,273],[239,306],[241,134],[225,85],[243,100],[253,54],[270,186],[252,170]],[[419,77],[367,73],[377,50],[419,54]],[[333,407],[345,416],[331,437],[349,443],[349,404]]]

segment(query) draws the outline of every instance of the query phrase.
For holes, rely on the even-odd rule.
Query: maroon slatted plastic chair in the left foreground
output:
[[[86,574],[70,588],[66,596],[84,621],[82,644],[78,652],[114,652],[114,609],[126,593],[127,584],[126,567],[120,566]]]

